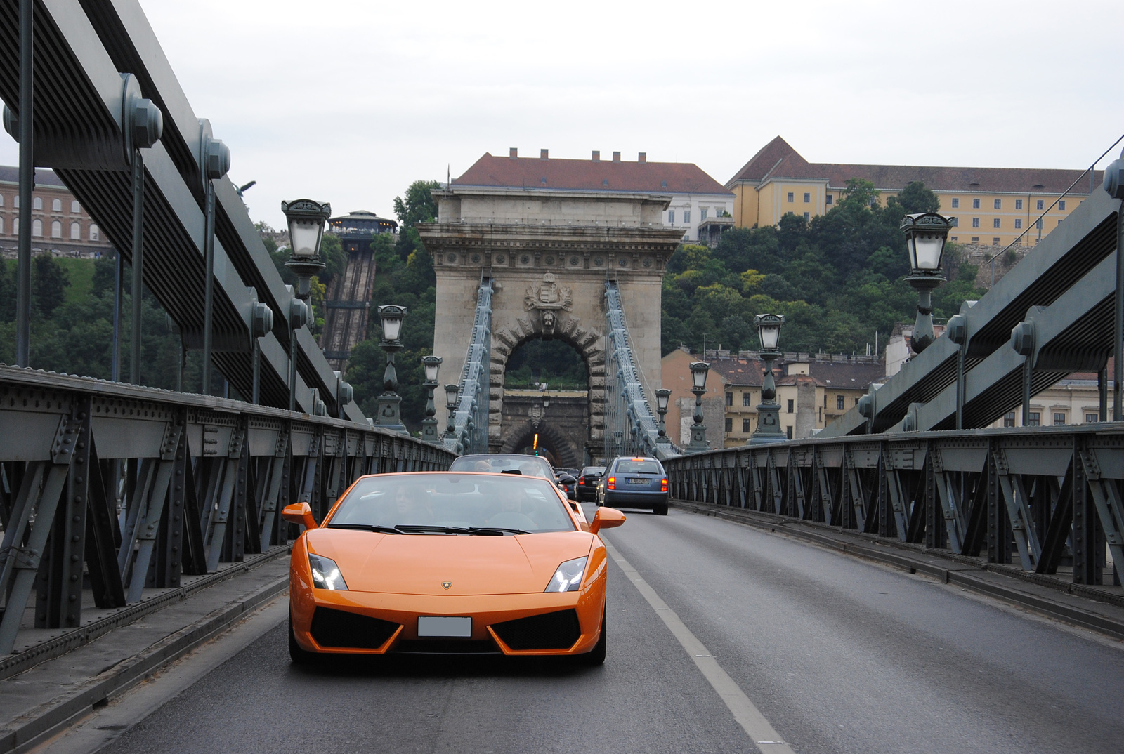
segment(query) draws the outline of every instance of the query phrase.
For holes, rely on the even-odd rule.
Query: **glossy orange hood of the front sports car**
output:
[[[350,590],[395,594],[542,592],[559,564],[588,555],[593,539],[586,532],[495,537],[314,529],[307,536],[309,552],[334,560]]]

